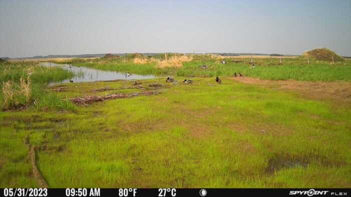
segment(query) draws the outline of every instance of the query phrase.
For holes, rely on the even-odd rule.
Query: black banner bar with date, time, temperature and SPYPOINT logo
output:
[[[0,197],[351,196],[351,188],[1,188]]]

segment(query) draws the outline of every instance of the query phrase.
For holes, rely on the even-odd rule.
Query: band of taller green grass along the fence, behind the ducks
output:
[[[201,57],[201,56],[200,56]],[[111,62],[92,61],[75,63],[76,65],[88,66],[102,70],[115,70],[121,72],[131,72],[137,74],[155,74],[170,76],[205,76],[213,77],[232,76],[234,72],[241,72],[246,76],[255,76],[260,79],[269,80],[286,80],[296,79],[304,81],[335,81],[351,80],[351,65],[345,63],[327,63],[311,62],[307,63],[302,57],[283,59],[280,64],[278,58],[260,58],[254,59],[256,67],[253,68],[250,59],[237,59],[235,57],[227,59],[226,64],[221,63],[219,59],[213,59],[209,56],[193,57],[194,60],[183,62],[182,67],[159,67],[156,61],[146,62],[143,64],[132,61],[123,62],[123,57]],[[118,58],[117,58],[118,59]],[[207,69],[201,65],[210,64]]]

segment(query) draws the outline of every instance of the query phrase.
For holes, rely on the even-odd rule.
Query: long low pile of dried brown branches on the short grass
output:
[[[103,100],[110,100],[115,98],[129,98],[136,95],[153,95],[159,94],[158,91],[143,91],[143,92],[134,92],[134,93],[111,93],[105,95],[85,95],[84,97],[73,97],[70,100],[77,105],[87,105],[93,102],[103,101]]]

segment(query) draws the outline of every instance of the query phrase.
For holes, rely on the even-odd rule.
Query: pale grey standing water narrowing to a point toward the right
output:
[[[40,65],[44,66],[60,66],[63,69],[70,70],[74,73],[72,78],[67,78],[61,81],[50,81],[49,85],[54,85],[57,83],[66,83],[73,80],[73,82],[90,82],[96,80],[115,80],[115,79],[146,79],[155,78],[154,75],[140,75],[130,73],[129,75],[117,72],[117,71],[106,71],[98,70],[90,67],[75,66],[71,64],[57,64],[53,62],[40,62]]]

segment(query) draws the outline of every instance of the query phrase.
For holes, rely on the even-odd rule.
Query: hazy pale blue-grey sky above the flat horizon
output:
[[[351,0],[0,0],[0,56],[316,47],[351,56]]]

